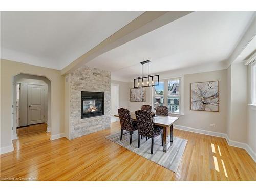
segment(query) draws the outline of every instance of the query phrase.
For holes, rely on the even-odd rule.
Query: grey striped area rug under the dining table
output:
[[[169,150],[165,153],[163,152],[163,147],[161,145],[161,135],[154,138],[154,152],[151,155],[151,139],[146,141],[146,138],[140,140],[140,148],[138,148],[138,131],[135,131],[133,134],[132,144],[130,145],[130,135],[129,132],[126,132],[123,137],[122,141],[120,141],[120,133],[115,133],[113,135],[109,135],[105,137],[116,144],[119,144],[127,150],[130,150],[144,158],[151,160],[169,170],[176,173],[180,161],[182,159],[182,155],[184,153],[187,140],[181,139],[179,137],[174,137],[174,142],[170,146]],[[169,137],[167,137],[169,139]],[[169,147],[170,144],[167,145]]]

